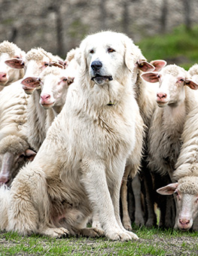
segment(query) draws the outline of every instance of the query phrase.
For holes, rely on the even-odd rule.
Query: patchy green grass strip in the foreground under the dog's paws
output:
[[[109,241],[107,238],[62,238],[46,236],[20,236],[17,233],[0,233],[0,256],[5,255],[181,255],[198,251],[197,233],[176,230],[134,227],[139,241]],[[190,242],[189,242],[190,241]],[[172,247],[173,246],[173,247]],[[178,248],[177,248],[178,246]],[[198,252],[197,252],[198,253]],[[179,255],[179,254],[178,254]]]

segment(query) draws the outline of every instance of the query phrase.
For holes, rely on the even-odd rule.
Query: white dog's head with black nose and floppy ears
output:
[[[113,80],[123,81],[126,72],[133,72],[141,51],[126,35],[99,32],[88,35],[76,53],[82,74],[103,85]],[[127,68],[127,69],[126,69]]]

